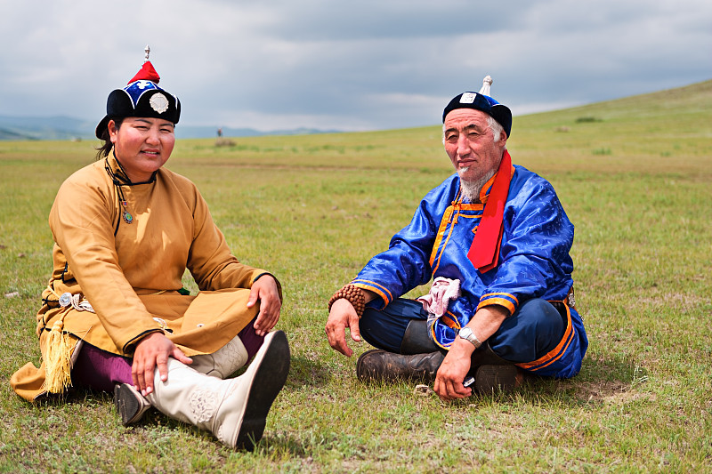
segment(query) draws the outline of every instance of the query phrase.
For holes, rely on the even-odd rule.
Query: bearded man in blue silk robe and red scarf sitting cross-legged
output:
[[[490,97],[491,82],[443,111],[457,173],[329,301],[331,347],[352,356],[349,328],[378,348],[359,358],[360,380],[434,381],[451,400],[581,368],[588,340],[573,299],[573,225],[548,181],[512,165],[512,112]],[[401,298],[431,279],[428,294]]]

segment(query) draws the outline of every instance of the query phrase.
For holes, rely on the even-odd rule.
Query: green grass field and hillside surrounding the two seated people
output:
[[[451,173],[439,126],[179,141],[168,167],[284,287],[292,368],[254,453],[160,414],[124,428],[108,395],[33,406],[12,392],[10,375],[39,364],[54,194],[95,144],[0,141],[0,471],[712,471],[710,125],[712,81],[514,118],[514,163],[551,181],[576,225],[590,348],[572,380],[451,404],[357,382],[324,335],[331,293]]]

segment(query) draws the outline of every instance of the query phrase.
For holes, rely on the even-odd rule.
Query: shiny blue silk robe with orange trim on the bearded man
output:
[[[470,203],[455,173],[423,198],[409,225],[392,237],[388,250],[368,261],[352,284],[378,294],[382,301],[376,307],[384,308],[431,278],[457,278],[461,296],[431,326],[433,341],[445,349],[483,306],[501,305],[514,314],[532,298],[562,301],[567,320],[562,341],[546,357],[520,366],[541,375],[571,377],[578,374],[588,346],[583,321],[567,301],[573,285],[573,224],[548,181],[519,165],[512,173],[497,267],[481,273],[467,259],[495,177],[483,187],[481,203]]]

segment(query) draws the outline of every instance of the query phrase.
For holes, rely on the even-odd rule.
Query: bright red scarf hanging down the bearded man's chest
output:
[[[512,181],[512,158],[505,150],[499,163],[497,177],[490,190],[490,197],[484,206],[480,225],[474,235],[473,245],[470,245],[470,251],[467,252],[467,258],[481,273],[495,268],[499,260],[499,245],[502,243],[505,203],[510,181]]]

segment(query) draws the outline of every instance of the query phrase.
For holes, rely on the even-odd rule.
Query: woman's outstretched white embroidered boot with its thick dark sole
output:
[[[252,449],[262,438],[267,414],[287,381],[289,344],[281,331],[269,333],[245,374],[220,380],[168,359],[168,380],[156,369],[146,397],[162,413],[208,430],[223,444]]]

